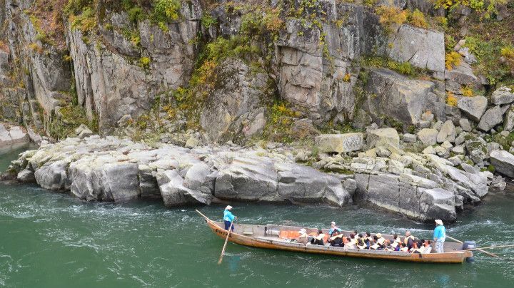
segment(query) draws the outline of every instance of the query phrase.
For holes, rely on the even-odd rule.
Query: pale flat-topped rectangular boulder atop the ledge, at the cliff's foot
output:
[[[323,153],[347,153],[362,150],[362,133],[322,134],[314,138],[314,143]]]

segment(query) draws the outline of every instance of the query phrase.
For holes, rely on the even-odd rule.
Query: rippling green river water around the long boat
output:
[[[24,148],[4,150],[0,170]],[[351,205],[236,203],[246,223],[327,226],[429,237],[431,225]],[[478,245],[514,240],[514,192],[463,212],[448,235]],[[220,219],[223,207],[168,209],[161,202],[84,202],[36,185],[0,184],[0,287],[511,287],[514,250],[475,254],[474,263],[409,264],[242,247],[223,240],[195,208]]]

